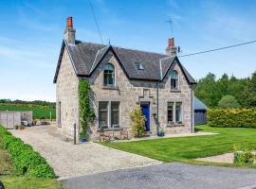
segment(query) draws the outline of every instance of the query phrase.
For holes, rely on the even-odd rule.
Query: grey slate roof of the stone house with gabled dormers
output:
[[[112,51],[130,79],[162,80],[174,60],[177,60],[188,81],[191,84],[196,83],[188,71],[181,65],[177,57],[169,57],[164,54],[121,48],[112,45],[84,43],[80,41],[76,41],[75,45],[69,45],[64,41],[54,77],[54,83],[58,77],[64,46],[67,46],[77,76],[90,76],[103,57],[109,51]],[[137,70],[136,62],[140,62],[144,70]]]

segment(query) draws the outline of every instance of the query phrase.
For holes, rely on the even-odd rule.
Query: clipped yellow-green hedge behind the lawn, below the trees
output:
[[[210,127],[256,128],[256,111],[252,109],[208,110]]]

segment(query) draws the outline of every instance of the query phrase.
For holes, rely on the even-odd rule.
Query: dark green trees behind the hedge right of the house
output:
[[[212,73],[198,80],[194,94],[208,108],[256,108],[256,71],[251,77],[237,78]]]

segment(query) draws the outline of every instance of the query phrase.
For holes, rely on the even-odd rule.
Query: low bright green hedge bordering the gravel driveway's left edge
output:
[[[46,159],[19,138],[12,136],[7,129],[0,126],[0,146],[7,149],[12,156],[18,174],[36,178],[54,178],[53,169]]]

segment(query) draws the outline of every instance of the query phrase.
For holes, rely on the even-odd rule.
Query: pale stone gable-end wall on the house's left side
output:
[[[74,135],[73,125],[79,126],[78,86],[79,78],[75,74],[65,47],[56,82],[56,123],[60,131],[70,138]],[[61,122],[59,111],[61,111]]]

